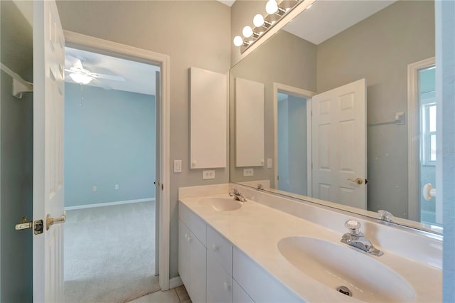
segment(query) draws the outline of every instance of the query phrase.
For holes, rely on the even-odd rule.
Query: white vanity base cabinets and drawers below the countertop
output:
[[[181,202],[178,218],[178,272],[193,302],[303,302]]]

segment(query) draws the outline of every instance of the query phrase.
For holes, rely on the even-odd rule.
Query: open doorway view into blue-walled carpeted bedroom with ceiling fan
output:
[[[124,302],[159,289],[159,70],[65,49],[67,302]]]

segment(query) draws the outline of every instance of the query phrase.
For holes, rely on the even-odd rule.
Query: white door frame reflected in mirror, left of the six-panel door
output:
[[[306,98],[306,180],[307,196],[311,196],[311,97],[316,92],[304,90],[282,83],[273,83],[273,124],[274,124],[274,188],[278,186],[278,92],[287,92],[289,95]],[[277,188],[278,189],[278,188]]]

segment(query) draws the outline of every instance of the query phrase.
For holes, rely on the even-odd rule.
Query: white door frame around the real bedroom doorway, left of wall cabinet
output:
[[[153,63],[161,68],[161,176],[156,179],[163,184],[161,191],[161,201],[159,207],[159,286],[161,290],[169,289],[169,234],[171,223],[170,208],[170,57],[151,50],[144,50],[127,46],[125,44],[107,41],[92,36],[63,31],[65,34],[65,46],[83,48],[84,50],[97,51],[105,55],[117,55],[127,60],[136,60],[143,63]],[[158,202],[156,202],[158,203]]]

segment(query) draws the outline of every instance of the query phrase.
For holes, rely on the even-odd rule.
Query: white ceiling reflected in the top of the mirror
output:
[[[318,0],[283,29],[318,45],[395,1]]]

